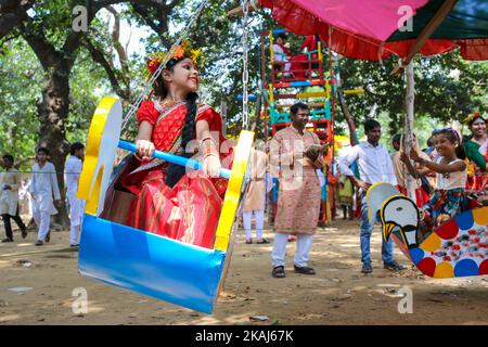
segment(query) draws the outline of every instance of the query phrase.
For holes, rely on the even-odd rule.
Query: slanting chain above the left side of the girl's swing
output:
[[[149,94],[151,88],[153,87],[154,81],[157,79],[157,77],[159,77],[160,73],[163,72],[163,69],[165,69],[166,64],[169,62],[169,60],[171,60],[171,56],[175,54],[176,49],[178,48],[178,46],[181,43],[181,41],[183,41],[184,39],[187,39],[188,34],[190,31],[190,28],[193,26],[193,24],[200,18],[204,8],[207,5],[207,3],[209,2],[209,0],[203,0],[202,3],[200,4],[200,8],[196,10],[195,15],[192,17],[192,20],[190,21],[190,23],[184,27],[183,31],[181,33],[181,35],[179,36],[179,38],[177,39],[177,41],[172,44],[172,47],[169,49],[168,54],[166,54],[165,59],[163,60],[163,62],[159,64],[159,66],[157,67],[157,69],[154,72],[153,76],[151,76],[150,80],[146,81],[144,83],[144,89],[143,91],[139,94],[138,99],[136,99],[136,102],[133,104],[130,105],[130,110],[127,113],[126,117],[124,117],[123,120],[123,126],[121,126],[121,131],[124,131],[127,127],[127,125],[129,124],[130,118],[133,116],[133,114],[138,111],[139,105],[141,104],[141,102],[145,99],[145,97]]]

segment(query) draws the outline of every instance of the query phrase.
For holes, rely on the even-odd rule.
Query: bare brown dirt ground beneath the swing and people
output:
[[[15,243],[0,244],[0,324],[488,324],[487,277],[433,280],[414,269],[384,270],[378,227],[372,239],[374,271],[363,275],[358,230],[359,221],[343,220],[318,230],[310,254],[317,275],[293,272],[295,243],[288,243],[285,279],[271,278],[271,244],[245,244],[240,230],[214,314],[80,277],[68,231],[53,232],[42,247],[34,246],[35,232],[22,240],[16,231]],[[272,241],[270,229],[265,236]],[[72,309],[79,287],[88,293],[85,314]],[[398,291],[406,288],[412,313],[398,311]],[[255,316],[267,320],[254,322]]]

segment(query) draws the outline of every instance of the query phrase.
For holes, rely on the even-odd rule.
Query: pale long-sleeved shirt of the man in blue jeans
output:
[[[354,162],[358,164],[362,181],[370,184],[387,182],[397,185],[391,158],[383,144],[378,143],[377,146],[373,146],[369,142],[361,142],[352,146],[339,158],[339,172],[345,176],[355,176],[349,168]]]

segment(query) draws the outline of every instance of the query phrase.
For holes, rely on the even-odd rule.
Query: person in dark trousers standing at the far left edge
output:
[[[27,236],[27,228],[18,216],[18,187],[21,185],[21,175],[13,168],[13,156],[5,154],[2,157],[1,166],[4,171],[0,172],[0,215],[5,227],[5,239],[2,242],[13,242],[12,218],[22,231],[22,237]]]

